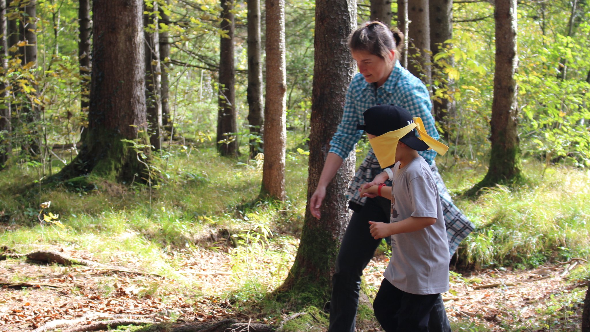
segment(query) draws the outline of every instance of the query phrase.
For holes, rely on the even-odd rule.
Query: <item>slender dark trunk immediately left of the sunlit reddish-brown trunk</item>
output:
[[[260,60],[260,0],[248,1],[248,123],[250,159],[263,149],[262,63]]]

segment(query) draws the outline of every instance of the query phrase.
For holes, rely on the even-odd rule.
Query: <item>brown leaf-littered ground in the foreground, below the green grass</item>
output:
[[[77,259],[93,254],[67,246],[45,247]],[[122,253],[122,255],[128,255]],[[158,275],[102,267],[43,264],[25,257],[0,261],[0,331],[41,331],[60,321],[78,325],[104,318],[143,318],[163,321],[215,322],[227,318],[248,323],[278,324],[255,307],[240,307],[224,297],[232,288],[231,261],[224,250],[186,249],[175,252],[185,263],[179,274],[195,279],[199,289]],[[113,264],[122,257],[113,257]],[[129,258],[127,258],[129,259]],[[133,259],[131,259],[133,261]],[[365,269],[365,282],[376,289],[388,258],[374,258]],[[484,269],[451,277],[451,291],[443,294],[449,318],[458,330],[468,331],[579,331],[586,284],[572,283],[568,274],[582,259],[535,269]],[[202,295],[207,294],[207,295]],[[572,301],[563,309],[563,301]],[[552,303],[556,313],[549,313]],[[548,318],[543,318],[548,317]],[[551,321],[548,321],[551,320]],[[470,327],[470,328],[466,328]],[[518,327],[518,328],[517,328]],[[359,331],[380,331],[375,323]],[[315,330],[313,331],[323,331]]]

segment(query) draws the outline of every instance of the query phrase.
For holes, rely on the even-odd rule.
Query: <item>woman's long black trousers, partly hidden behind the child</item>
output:
[[[386,198],[367,198],[365,205],[352,214],[336,258],[336,272],[332,276],[328,332],[355,331],[360,276],[381,242],[381,239],[375,240],[371,236],[369,220],[388,223],[390,209]],[[395,298],[390,300],[396,301]],[[430,332],[451,331],[440,295],[430,313],[428,329]]]

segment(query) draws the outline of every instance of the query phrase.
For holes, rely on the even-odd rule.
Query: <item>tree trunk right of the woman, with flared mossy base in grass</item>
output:
[[[516,0],[496,0],[496,69],[494,97],[491,106],[491,155],[486,177],[468,192],[477,193],[481,187],[513,183],[520,180],[520,148],[517,84],[514,80],[518,56],[516,53]]]

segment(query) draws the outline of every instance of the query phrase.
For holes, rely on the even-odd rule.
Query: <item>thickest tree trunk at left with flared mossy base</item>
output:
[[[148,155],[143,1],[94,0],[89,126],[80,154],[58,178],[97,174],[109,180],[148,178],[136,152]],[[126,139],[140,147],[123,142]]]

